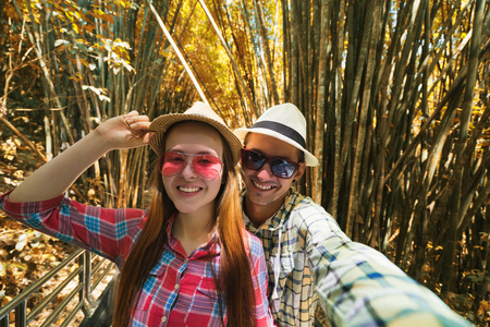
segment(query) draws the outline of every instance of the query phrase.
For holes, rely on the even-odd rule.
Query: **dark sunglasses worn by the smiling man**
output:
[[[299,164],[279,157],[268,157],[261,153],[242,149],[242,167],[259,170],[264,165],[269,164],[270,171],[281,179],[291,179],[299,167]]]

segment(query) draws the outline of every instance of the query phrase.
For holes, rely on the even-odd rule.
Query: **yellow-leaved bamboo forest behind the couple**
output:
[[[154,119],[205,100],[236,129],[290,101],[304,112],[307,144],[320,161],[299,191],[353,240],[387,254],[483,326],[490,314],[489,5],[2,0],[1,191],[101,121],[131,110]],[[109,153],[69,195],[144,206],[154,160],[148,148]],[[42,261],[65,255],[53,240],[17,228],[1,218],[2,302],[22,289],[21,280],[49,267]],[[39,242],[58,256],[36,262],[25,254]]]

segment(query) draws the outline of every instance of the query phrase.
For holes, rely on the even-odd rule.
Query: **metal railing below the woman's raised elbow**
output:
[[[69,264],[74,262],[79,257],[79,266],[74,271],[70,274],[68,278],[65,278],[62,282],[60,282],[57,288],[46,298],[42,299],[41,302],[36,304],[30,312],[27,314],[27,300],[37,292],[47,281],[53,278],[61,269],[68,267]],[[10,313],[15,312],[15,327],[25,327],[28,323],[30,323],[42,310],[52,302],[56,296],[70,283],[70,281],[74,280],[76,276],[78,276],[78,284],[66,295],[66,298],[57,305],[57,308],[46,318],[41,326],[48,326],[51,324],[59,314],[66,307],[66,305],[73,300],[73,298],[78,294],[78,304],[75,306],[73,312],[64,319],[61,326],[68,326],[68,324],[73,319],[75,314],[82,310],[85,315],[89,314],[94,310],[95,301],[91,296],[91,292],[99,284],[99,282],[110,272],[113,268],[114,264],[110,264],[106,269],[103,269],[101,276],[97,278],[97,280],[90,282],[91,276],[100,270],[102,264],[107,259],[102,258],[94,269],[91,269],[91,254],[85,250],[76,250],[72,253],[68,258],[61,262],[58,266],[51,269],[48,274],[38,279],[35,283],[29,286],[27,289],[21,292],[17,296],[15,296],[12,301],[7,303],[3,307],[0,308],[0,327],[9,327],[10,326]],[[86,301],[85,301],[86,300]]]

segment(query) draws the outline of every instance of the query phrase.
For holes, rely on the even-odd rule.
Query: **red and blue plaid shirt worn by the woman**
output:
[[[105,256],[122,267],[146,220],[146,210],[107,209],[60,196],[35,203],[14,203],[0,196],[10,217],[60,240]],[[167,227],[168,243],[152,268],[133,310],[132,326],[221,326],[219,299],[211,270],[219,270],[218,234],[189,256]],[[260,241],[244,230],[256,295],[257,326],[272,326],[267,300],[268,275]],[[224,307],[224,302],[223,307]],[[224,307],[225,310],[225,307]],[[224,317],[224,323],[226,317]]]

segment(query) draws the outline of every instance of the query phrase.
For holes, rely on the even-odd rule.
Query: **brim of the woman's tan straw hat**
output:
[[[163,136],[166,135],[167,131],[175,123],[184,121],[203,122],[215,128],[224,137],[228,145],[230,146],[230,149],[233,155],[233,162],[232,162],[233,166],[235,166],[238,162],[242,143],[240,142],[240,138],[235,134],[233,134],[233,132],[229,128],[205,116],[186,114],[186,113],[162,114],[151,122],[148,131],[154,132],[155,135],[151,136],[149,141],[149,146],[154,149],[154,152],[158,156],[160,156],[164,152]]]

